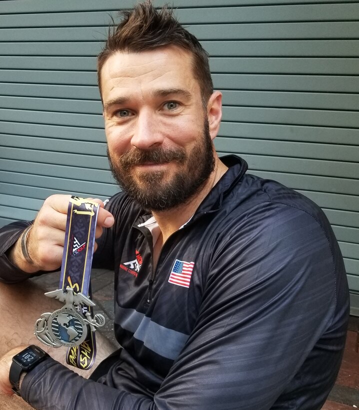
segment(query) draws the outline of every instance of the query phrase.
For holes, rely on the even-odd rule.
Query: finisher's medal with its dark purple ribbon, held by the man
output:
[[[59,289],[46,292],[64,306],[53,313],[42,313],[35,323],[35,335],[48,346],[66,346],[66,361],[89,369],[95,359],[94,331],[103,326],[102,314],[93,316],[90,299],[90,273],[98,203],[71,196],[67,209],[65,244]]]

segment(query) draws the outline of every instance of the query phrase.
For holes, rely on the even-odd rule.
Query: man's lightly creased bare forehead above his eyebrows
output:
[[[192,55],[173,45],[140,52],[117,51],[103,64],[100,80],[104,100],[125,90],[143,93],[167,87],[199,92]]]

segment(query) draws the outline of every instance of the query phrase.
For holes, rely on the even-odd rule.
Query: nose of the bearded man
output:
[[[137,148],[149,149],[163,142],[161,132],[155,114],[150,110],[142,110],[138,113],[131,144]]]

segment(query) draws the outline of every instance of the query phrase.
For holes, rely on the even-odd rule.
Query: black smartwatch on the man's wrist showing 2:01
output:
[[[12,357],[8,378],[14,393],[20,395],[19,381],[21,373],[30,371],[47,356],[48,354],[45,351],[31,344]]]

